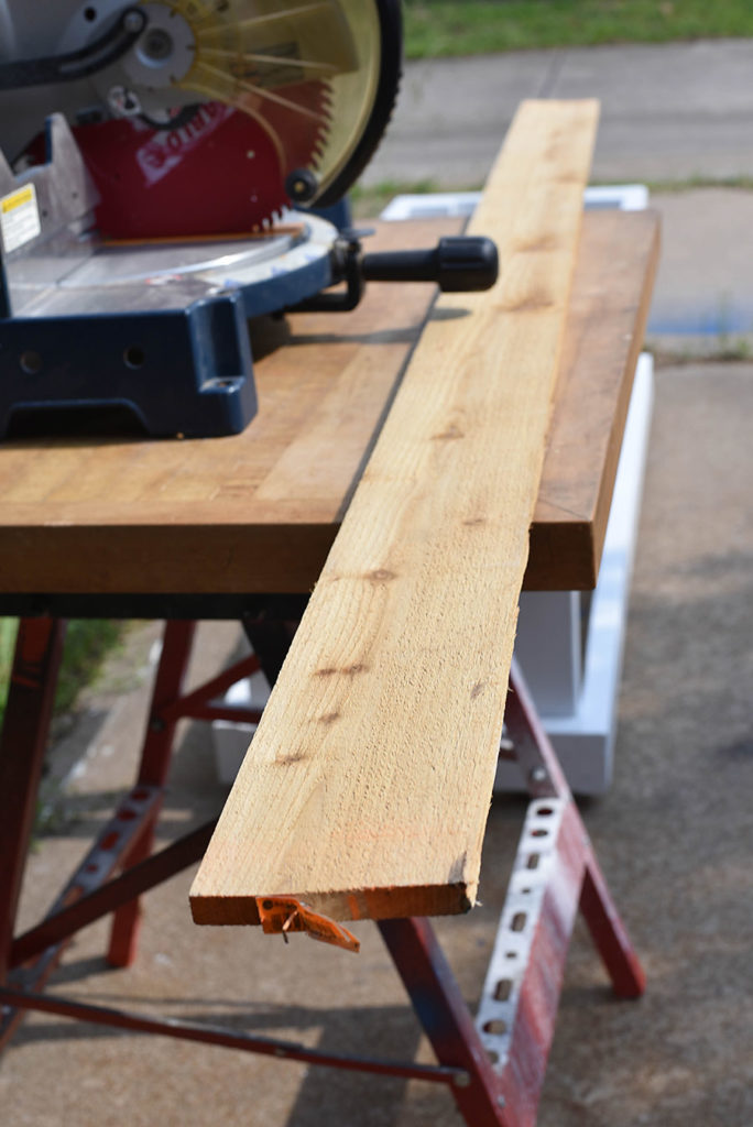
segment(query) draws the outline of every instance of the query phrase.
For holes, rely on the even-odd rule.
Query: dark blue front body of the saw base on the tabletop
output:
[[[238,434],[256,409],[240,295],[158,313],[0,320],[0,438],[118,416],[154,437],[214,437]]]

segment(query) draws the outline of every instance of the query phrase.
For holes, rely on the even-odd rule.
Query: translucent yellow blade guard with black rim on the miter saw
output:
[[[399,0],[175,0],[194,35],[175,82],[254,117],[283,179],[305,169],[307,202],[331,203],[369,160],[400,76]],[[307,98],[326,86],[327,103]],[[293,92],[295,91],[295,92]],[[313,140],[301,159],[300,141]]]

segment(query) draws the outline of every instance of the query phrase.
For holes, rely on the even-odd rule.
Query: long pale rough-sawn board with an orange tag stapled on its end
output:
[[[195,879],[198,923],[285,895],[336,919],[475,902],[596,117],[516,115],[471,225],[499,282],[437,302]]]

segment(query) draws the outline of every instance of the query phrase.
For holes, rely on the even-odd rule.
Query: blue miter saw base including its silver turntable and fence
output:
[[[198,250],[103,243],[59,114],[46,149],[18,176],[0,153],[0,441],[115,419],[153,437],[241,432],[257,409],[247,319],[329,286],[337,229],[291,213],[286,231]]]

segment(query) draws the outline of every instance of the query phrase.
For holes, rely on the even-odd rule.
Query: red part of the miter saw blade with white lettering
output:
[[[329,122],[326,82],[289,87],[290,106],[260,119],[218,101],[174,128],[141,118],[73,132],[100,195],[106,238],[179,238],[258,230],[290,202],[285,179],[316,163]],[[183,115],[181,115],[183,116]]]

